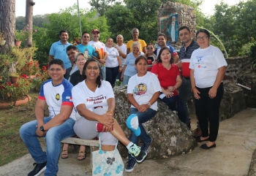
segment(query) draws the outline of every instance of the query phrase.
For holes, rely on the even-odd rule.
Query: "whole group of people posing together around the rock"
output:
[[[51,79],[40,89],[35,108],[37,120],[20,128],[20,137],[36,161],[29,175],[39,175],[45,169],[45,175],[56,175],[62,139],[75,134],[81,139],[93,139],[99,137],[99,133],[102,150],[114,150],[116,140],[127,147],[129,160],[125,170],[132,172],[135,164],[146,158],[153,140],[143,123],[157,114],[157,99],[177,112],[179,120],[190,128],[187,101],[192,95],[198,119],[196,140],[207,141],[200,146],[202,149],[216,147],[222,80],[227,62],[219,48],[210,45],[207,30],[197,31],[197,42],[192,39],[187,26],[182,26],[178,32],[184,43],[180,58],[172,46],[166,45],[165,34],[158,35],[160,48],[155,49],[153,44],[146,45],[145,41],[138,39],[138,28],[133,28],[132,40],[127,45],[123,43],[124,37],[118,35],[118,45],[113,47],[111,38],[107,39],[106,45],[99,42],[99,31],[94,29],[93,40],[89,41],[89,33],[85,32],[82,43],[76,47],[68,45],[67,31],[62,31],[61,40],[50,48]],[[65,59],[62,59],[63,50]],[[65,61],[70,64],[65,64]],[[138,117],[140,134],[131,129],[129,139],[113,118],[116,79],[127,85],[130,115]],[[44,118],[46,104],[49,117]],[[102,124],[102,132],[97,131],[97,123]],[[47,153],[40,148],[37,137],[45,137]],[[143,142],[140,147],[139,139]],[[67,147],[65,144],[61,158],[67,158]],[[80,146],[78,160],[86,158],[85,148]]]

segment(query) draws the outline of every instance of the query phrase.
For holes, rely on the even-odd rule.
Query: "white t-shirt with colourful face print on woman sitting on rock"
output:
[[[147,104],[154,93],[158,91],[161,91],[161,85],[154,73],[147,72],[143,77],[138,77],[138,74],[135,74],[129,78],[127,93],[132,93],[138,104]],[[150,108],[157,110],[157,101]]]

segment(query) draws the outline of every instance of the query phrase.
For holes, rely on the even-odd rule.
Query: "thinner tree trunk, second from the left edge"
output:
[[[33,0],[26,0],[26,25],[29,25],[29,28],[33,28]],[[29,38],[25,42],[26,47],[32,46],[32,35],[29,35]]]

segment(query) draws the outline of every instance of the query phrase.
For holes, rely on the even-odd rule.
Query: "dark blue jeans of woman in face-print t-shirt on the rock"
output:
[[[139,112],[136,108],[129,109],[129,114],[137,114],[138,120],[139,120],[139,126],[140,126],[140,136],[136,137],[135,132],[131,130],[131,134],[129,136],[129,140],[136,145],[138,145],[139,138],[143,142],[149,142],[151,140],[151,137],[146,133],[146,130],[143,127],[142,123],[147,122],[148,120],[151,120],[151,118],[154,118],[154,116],[157,114],[156,110],[152,110],[151,108],[148,108],[146,112]],[[132,159],[132,156],[129,154],[129,159]]]

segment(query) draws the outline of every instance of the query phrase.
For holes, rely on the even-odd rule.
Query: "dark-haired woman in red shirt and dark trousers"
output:
[[[162,93],[159,99],[165,102],[170,110],[178,112],[178,118],[186,123],[186,111],[181,99],[178,96],[177,88],[181,86],[182,80],[178,66],[172,64],[169,47],[162,47],[157,56],[157,64],[151,70],[157,74]]]

